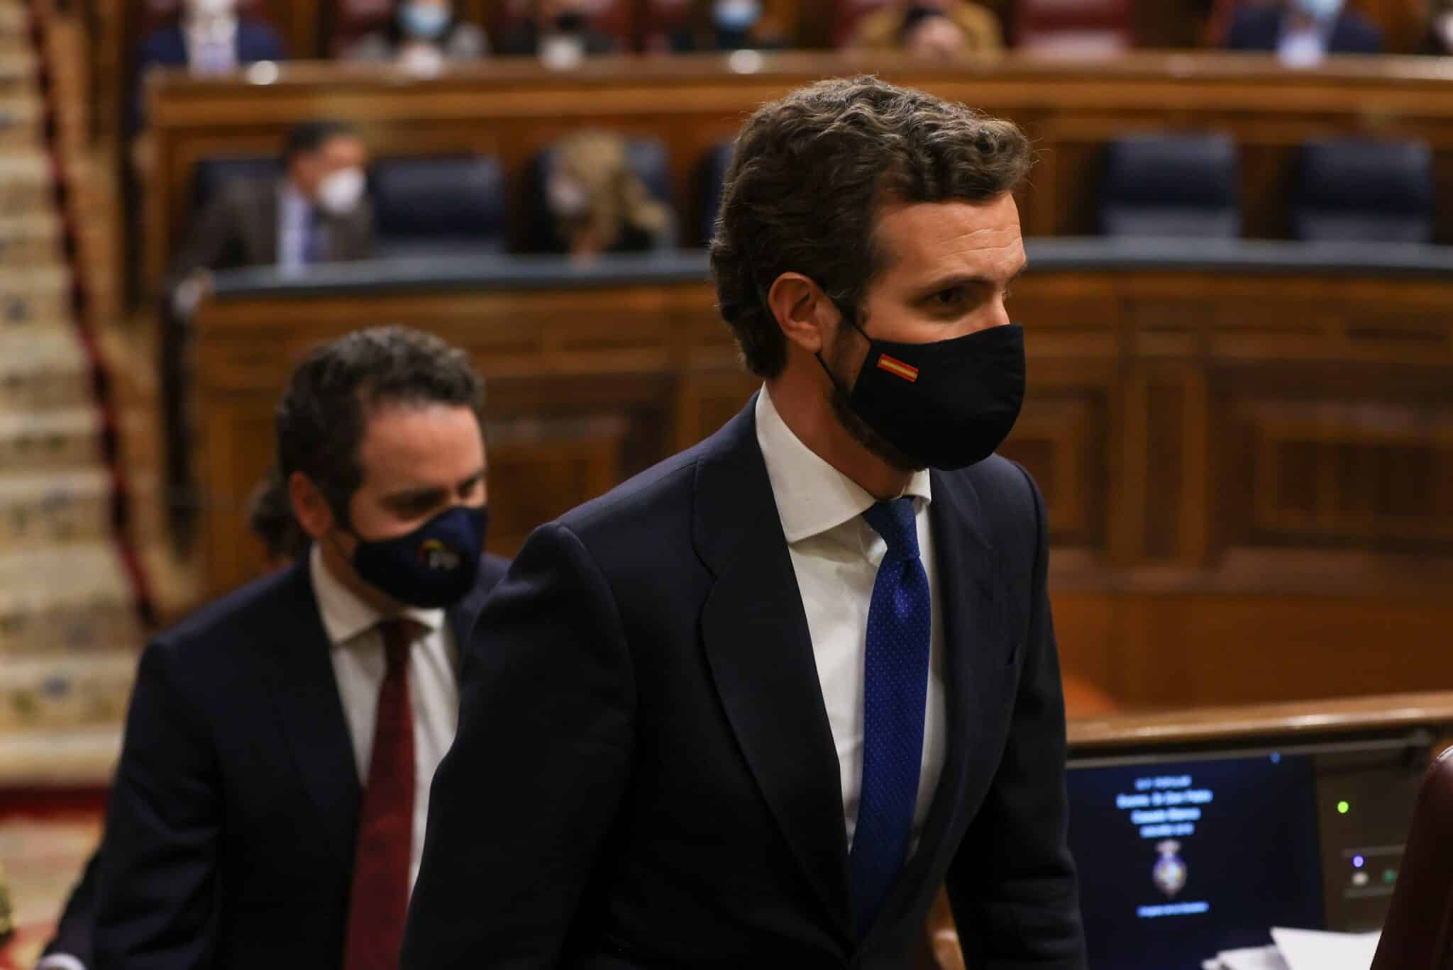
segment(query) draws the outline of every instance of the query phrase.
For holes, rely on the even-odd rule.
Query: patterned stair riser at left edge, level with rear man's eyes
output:
[[[0,473],[0,555],[109,542],[112,478],[100,468]]]

